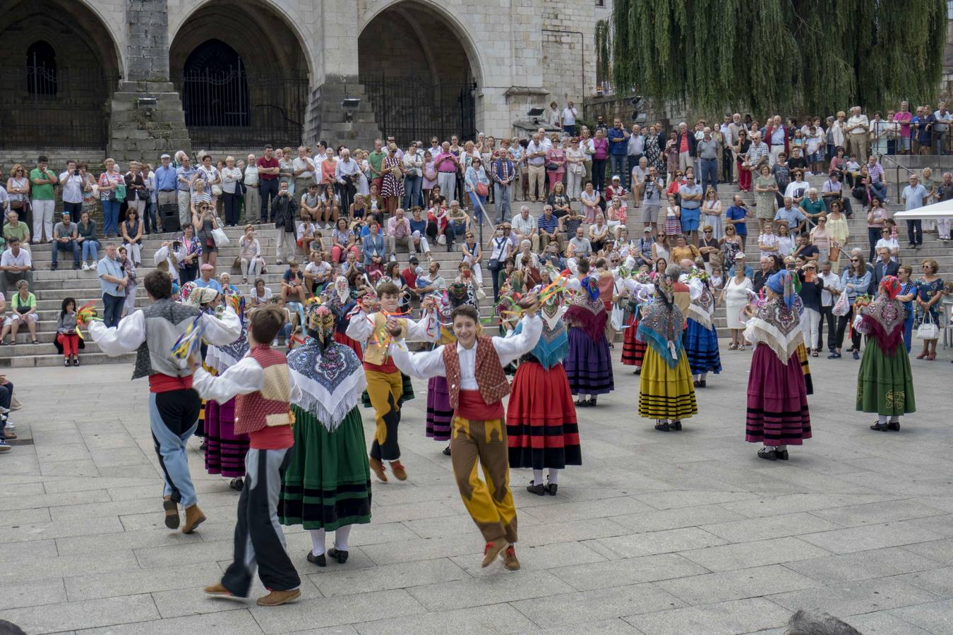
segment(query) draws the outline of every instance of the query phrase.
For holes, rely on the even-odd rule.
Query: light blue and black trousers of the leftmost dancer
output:
[[[183,507],[195,505],[195,486],[189,472],[189,437],[198,425],[202,400],[192,388],[152,392],[149,395],[149,427],[159,456],[165,486],[163,496]]]

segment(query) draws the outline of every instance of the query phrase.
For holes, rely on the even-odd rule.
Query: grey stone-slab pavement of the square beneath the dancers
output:
[[[308,535],[286,530],[303,597],[277,608],[202,593],[230,560],[237,494],[205,474],[193,440],[209,521],[192,536],[162,525],[147,387],[129,365],[10,370],[32,445],[0,456],[0,619],[30,634],[684,635],[781,633],[818,607],[868,634],[953,633],[948,355],[913,360],[920,411],[900,433],[854,412],[857,362],[812,360],[815,438],[767,463],[743,440],[751,352],[722,351],[684,431],[639,419],[638,377],[617,366],[616,391],[580,412],[584,465],[558,496],[513,472],[518,572],[479,568],[416,383],[401,427],[410,479],[375,483],[345,566],[308,564]]]

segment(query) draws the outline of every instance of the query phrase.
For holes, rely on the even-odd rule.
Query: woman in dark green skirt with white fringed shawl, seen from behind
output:
[[[281,486],[282,525],[311,533],[308,562],[343,565],[352,525],[371,522],[371,471],[357,404],[367,378],[355,351],[335,342],[338,315],[308,309],[304,346],[288,353],[294,413],[294,456]],[[324,535],[335,531],[325,556]]]

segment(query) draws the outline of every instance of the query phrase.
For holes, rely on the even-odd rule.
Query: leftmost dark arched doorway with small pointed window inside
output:
[[[94,34],[94,37],[91,37]],[[5,148],[105,149],[120,77],[110,32],[82,2],[0,1]]]

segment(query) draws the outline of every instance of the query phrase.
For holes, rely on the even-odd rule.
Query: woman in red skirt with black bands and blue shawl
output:
[[[540,308],[542,335],[519,363],[506,411],[510,467],[533,470],[526,490],[538,496],[556,496],[559,470],[582,465],[576,407],[562,367],[569,339],[560,304],[554,293]],[[546,485],[543,468],[549,469]]]

